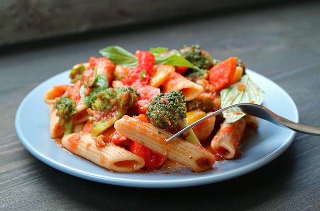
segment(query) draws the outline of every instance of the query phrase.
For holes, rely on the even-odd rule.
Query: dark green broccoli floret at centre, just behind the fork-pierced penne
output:
[[[181,91],[159,93],[148,105],[146,116],[148,122],[154,126],[175,133],[188,126],[186,97]],[[200,145],[193,130],[190,129],[188,133],[186,140]]]

